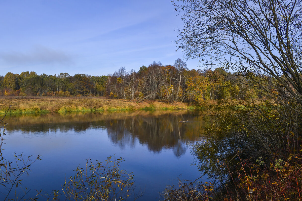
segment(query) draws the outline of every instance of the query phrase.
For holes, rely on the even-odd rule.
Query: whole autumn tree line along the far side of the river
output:
[[[138,72],[121,67],[107,76],[8,72],[0,77],[0,95],[108,96],[137,101],[157,99],[202,103],[213,99],[262,98],[266,92],[257,85],[257,77],[265,80],[261,74],[227,73],[222,68],[188,70],[187,64],[177,59],[174,65],[154,61],[148,67],[140,67]]]

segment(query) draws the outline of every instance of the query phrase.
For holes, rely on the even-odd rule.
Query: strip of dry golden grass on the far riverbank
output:
[[[180,102],[135,102],[104,97],[0,97],[0,113],[5,113],[9,105],[12,105],[10,113],[194,109]]]

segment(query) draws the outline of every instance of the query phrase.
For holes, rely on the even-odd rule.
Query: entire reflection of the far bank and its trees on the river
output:
[[[188,120],[179,123],[180,120]],[[171,149],[176,157],[186,152],[187,143],[198,139],[203,122],[188,111],[134,111],[85,114],[41,114],[9,116],[8,130],[20,130],[24,135],[51,135],[56,132],[83,134],[96,128],[107,130],[109,140],[120,149],[146,145],[151,152]],[[136,140],[137,139],[137,140]]]

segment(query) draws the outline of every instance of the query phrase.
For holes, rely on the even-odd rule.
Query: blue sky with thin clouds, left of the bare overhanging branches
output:
[[[181,58],[171,0],[0,1],[0,75],[35,71],[107,75]]]

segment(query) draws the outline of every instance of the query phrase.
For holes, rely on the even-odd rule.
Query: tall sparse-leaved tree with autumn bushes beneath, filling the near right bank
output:
[[[184,22],[178,49],[236,74],[236,80],[225,76],[213,87],[220,100],[207,107],[208,137],[194,145],[200,170],[218,176],[221,188],[214,192],[220,193],[212,198],[301,200],[302,1],[173,3]],[[205,75],[213,81],[215,76],[213,71]],[[240,102],[229,100],[237,80],[247,86],[234,90],[235,96],[244,92]],[[257,88],[270,97],[245,101],[261,93]]]

